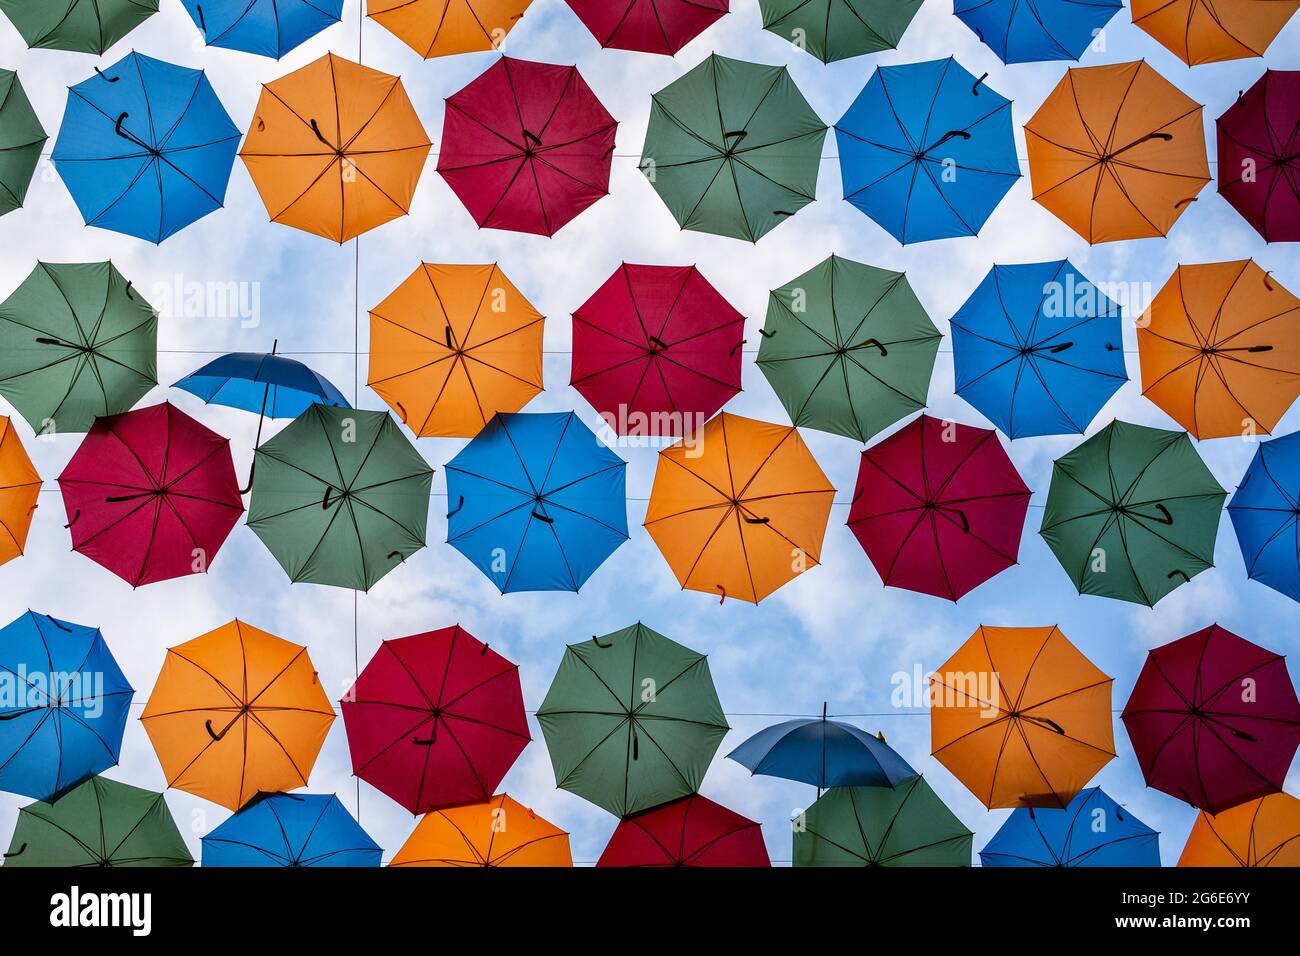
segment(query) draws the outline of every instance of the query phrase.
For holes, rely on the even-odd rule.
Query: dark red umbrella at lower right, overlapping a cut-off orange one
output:
[[[1147,654],[1123,721],[1147,786],[1208,813],[1282,790],[1300,747],[1286,658],[1218,624]]]

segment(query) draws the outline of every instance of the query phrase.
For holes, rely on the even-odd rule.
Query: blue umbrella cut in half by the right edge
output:
[[[1247,575],[1300,601],[1300,432],[1260,444],[1227,512]]]

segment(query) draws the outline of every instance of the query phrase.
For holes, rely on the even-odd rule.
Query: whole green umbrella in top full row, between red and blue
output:
[[[816,198],[824,139],[784,66],[715,53],[654,95],[641,172],[682,229],[757,242]]]

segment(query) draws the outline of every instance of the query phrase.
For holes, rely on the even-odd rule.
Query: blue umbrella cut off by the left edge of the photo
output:
[[[0,790],[49,803],[114,766],[134,693],[94,627],[0,628]]]

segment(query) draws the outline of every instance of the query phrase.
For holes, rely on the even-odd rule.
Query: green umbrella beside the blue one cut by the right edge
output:
[[[1040,533],[1080,594],[1149,607],[1214,566],[1226,497],[1186,432],[1112,421],[1057,459]]]

